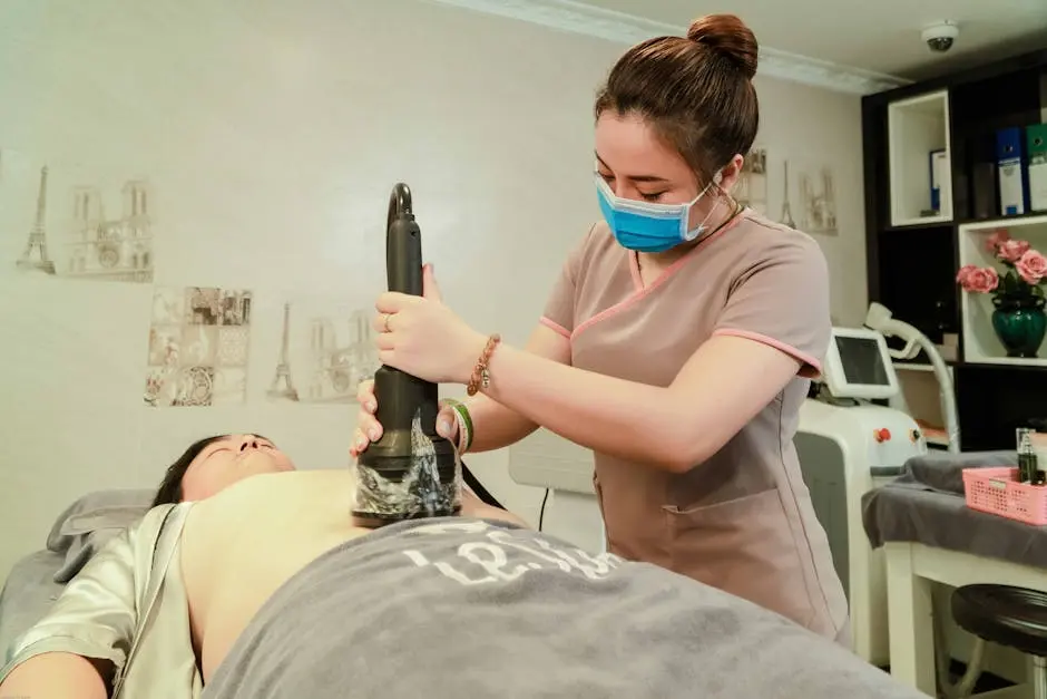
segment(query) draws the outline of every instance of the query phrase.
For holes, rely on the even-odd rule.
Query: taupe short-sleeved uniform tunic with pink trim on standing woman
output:
[[[847,599],[793,445],[809,379],[830,341],[829,273],[808,235],[751,210],[644,287],[606,224],[571,253],[542,322],[571,365],[668,386],[713,336],[764,342],[799,375],[720,452],[684,474],[595,455],[608,547],[714,585],[820,634],[847,628]]]

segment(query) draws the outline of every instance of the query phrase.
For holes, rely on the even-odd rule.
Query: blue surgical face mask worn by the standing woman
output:
[[[713,185],[720,184],[716,173]],[[713,186],[710,185],[710,186]],[[710,211],[705,221],[697,227],[689,229],[691,207],[708,192],[708,187],[684,204],[656,204],[622,198],[615,195],[610,185],[596,175],[596,191],[600,201],[604,220],[610,226],[618,244],[636,252],[665,252],[681,243],[697,240],[707,230]]]

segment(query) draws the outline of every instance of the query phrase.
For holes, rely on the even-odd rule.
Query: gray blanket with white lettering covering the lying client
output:
[[[205,699],[918,699],[844,648],[663,569],[471,520],[401,523],[281,588]]]

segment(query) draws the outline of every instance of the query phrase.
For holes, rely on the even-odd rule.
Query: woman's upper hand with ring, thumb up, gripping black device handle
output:
[[[379,297],[372,323],[379,360],[434,384],[467,384],[487,338],[443,304],[432,265],[422,268],[422,295]]]

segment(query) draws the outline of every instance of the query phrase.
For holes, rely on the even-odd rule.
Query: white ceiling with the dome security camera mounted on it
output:
[[[580,0],[685,29],[696,16],[732,12],[761,46],[919,80],[1047,48],[1047,0]],[[953,20],[946,54],[931,52],[923,27]]]

